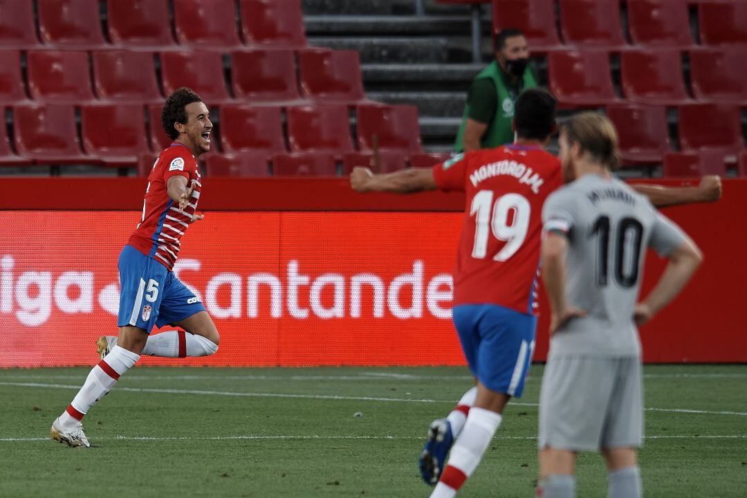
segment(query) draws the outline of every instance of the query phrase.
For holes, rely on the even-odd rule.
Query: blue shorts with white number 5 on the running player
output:
[[[120,253],[120,314],[117,326],[134,326],[150,333],[153,326],[170,325],[205,306],[185,284],[153,258],[132,246]]]

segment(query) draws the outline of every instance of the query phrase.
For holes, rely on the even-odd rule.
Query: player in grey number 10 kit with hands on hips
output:
[[[617,134],[606,117],[569,119],[560,159],[577,179],[548,197],[542,211],[542,276],[552,318],[539,399],[538,496],[574,497],[577,452],[601,451],[607,497],[637,498],[643,396],[636,326],[677,296],[702,257],[645,196],[613,178]],[[646,247],[669,265],[636,304]]]

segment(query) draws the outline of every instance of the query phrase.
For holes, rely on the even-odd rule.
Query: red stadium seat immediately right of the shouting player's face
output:
[[[285,152],[279,108],[223,105],[220,138],[226,152],[255,151],[267,158]]]

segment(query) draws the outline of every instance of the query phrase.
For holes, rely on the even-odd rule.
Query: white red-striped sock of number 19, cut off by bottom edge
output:
[[[484,408],[471,408],[462,435],[451,448],[449,461],[430,498],[453,498],[456,491],[472,475],[483,459],[495,431],[500,426],[500,414]]]

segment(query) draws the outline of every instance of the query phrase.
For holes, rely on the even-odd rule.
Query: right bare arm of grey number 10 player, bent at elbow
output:
[[[637,325],[643,325],[651,320],[664,306],[675,299],[703,261],[700,249],[689,238],[667,258],[669,258],[669,264],[656,287],[636,305],[633,317]]]

